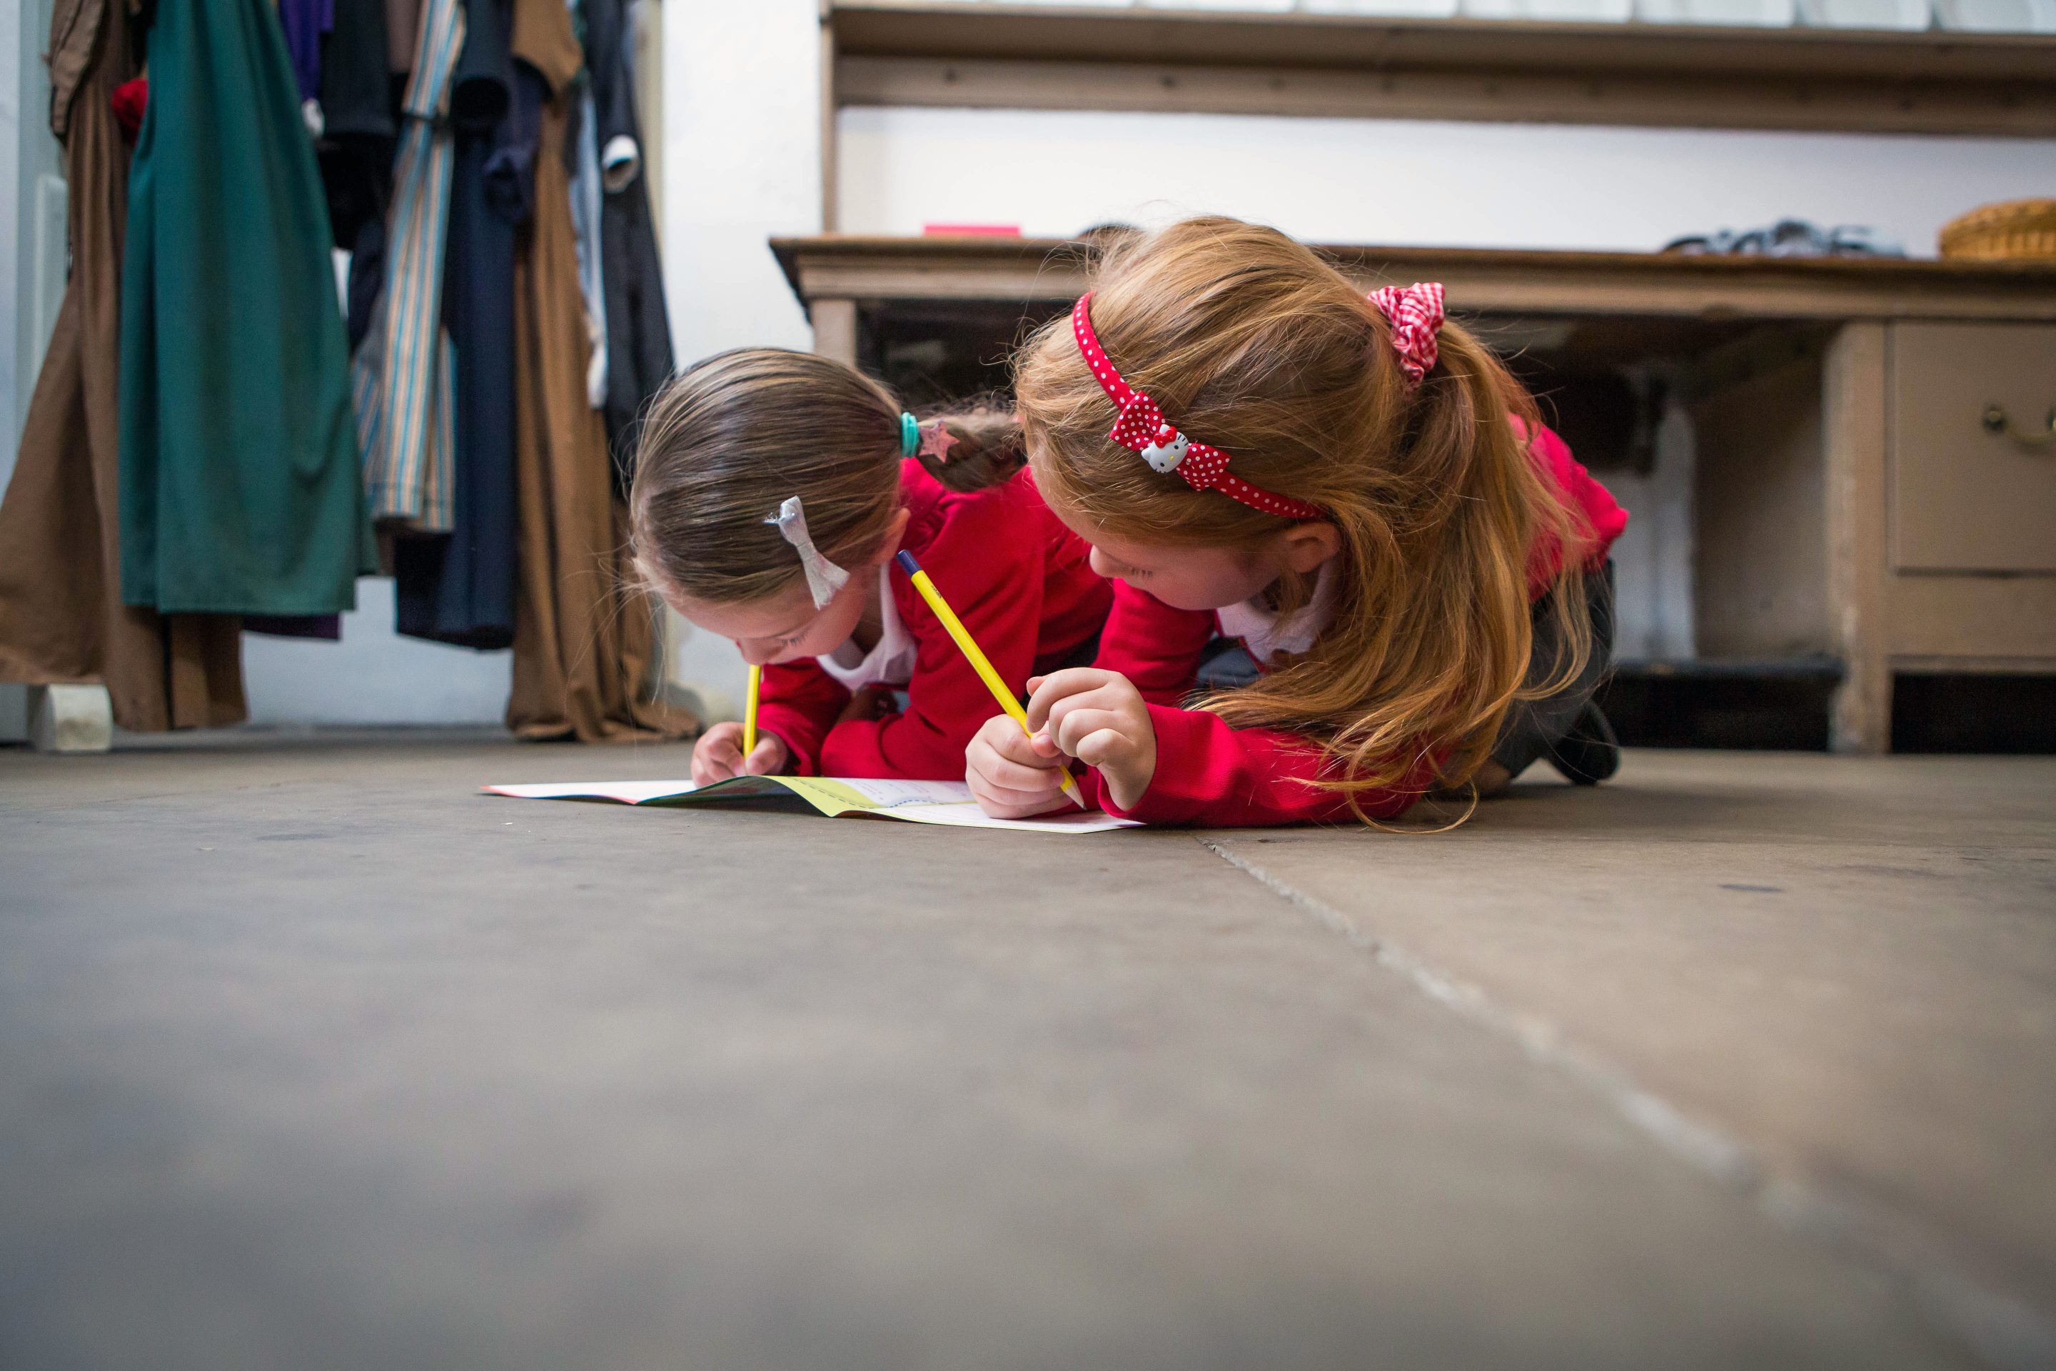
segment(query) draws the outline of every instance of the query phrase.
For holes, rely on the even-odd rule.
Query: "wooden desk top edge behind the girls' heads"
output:
[[[1059,238],[773,238],[794,294],[818,300],[1071,300],[1088,249]],[[1460,312],[1669,319],[2056,321],[2056,265],[1879,257],[1682,257],[1326,247],[1361,282],[1439,280]]]

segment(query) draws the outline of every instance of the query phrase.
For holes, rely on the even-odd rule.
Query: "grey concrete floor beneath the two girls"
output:
[[[2056,1365],[2056,761],[981,835],[0,752],[4,1367]]]

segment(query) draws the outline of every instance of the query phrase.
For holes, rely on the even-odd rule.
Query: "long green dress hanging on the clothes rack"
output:
[[[160,0],[121,275],[121,598],[331,615],[376,565],[315,148],[271,0]]]

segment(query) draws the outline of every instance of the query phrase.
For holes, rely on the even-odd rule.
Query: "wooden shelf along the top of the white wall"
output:
[[[2056,37],[822,0],[849,105],[2056,134]]]

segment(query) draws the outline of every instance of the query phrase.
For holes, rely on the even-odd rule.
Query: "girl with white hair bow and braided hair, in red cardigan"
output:
[[[1090,662],[1112,592],[1022,460],[1007,411],[919,423],[810,354],[728,351],[672,380],[639,442],[635,555],[672,608],[765,668],[757,748],[715,724],[693,781],[964,775],[993,697],[892,565],[901,549],[1016,689]]]

